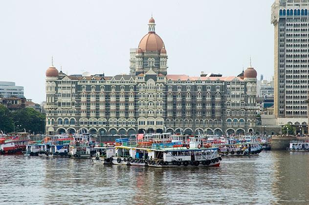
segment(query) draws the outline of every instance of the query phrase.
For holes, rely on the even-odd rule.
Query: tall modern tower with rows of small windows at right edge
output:
[[[309,0],[275,0],[274,114],[278,124],[307,124]]]

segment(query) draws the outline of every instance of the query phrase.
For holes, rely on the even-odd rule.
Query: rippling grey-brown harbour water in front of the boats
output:
[[[220,167],[154,168],[0,156],[5,204],[309,203],[309,153],[262,152]]]

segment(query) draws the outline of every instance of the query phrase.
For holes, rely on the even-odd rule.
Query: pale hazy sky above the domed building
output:
[[[274,0],[2,0],[0,81],[45,100],[45,71],[129,73],[130,48],[156,33],[168,54],[168,74],[237,76],[252,66],[273,76]]]

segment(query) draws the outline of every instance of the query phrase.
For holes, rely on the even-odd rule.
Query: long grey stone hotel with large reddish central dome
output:
[[[167,73],[167,51],[149,20],[148,33],[130,50],[130,74],[66,75],[46,70],[48,134],[255,133],[256,70],[241,75]]]

